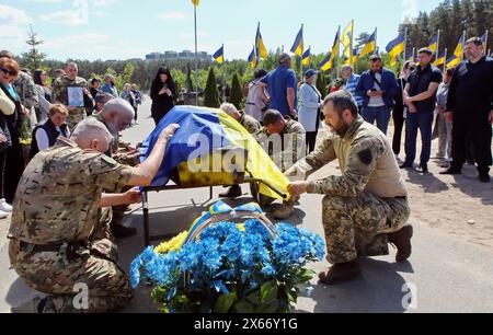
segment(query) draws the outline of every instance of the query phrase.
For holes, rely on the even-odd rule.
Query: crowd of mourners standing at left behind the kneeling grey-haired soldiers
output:
[[[129,103],[137,123],[142,94],[136,84],[125,84],[118,94],[114,77],[106,74],[103,85],[98,78],[89,85],[78,76],[74,62],[54,73],[51,80],[42,69],[31,74],[20,69],[12,53],[0,53],[0,219],[12,211],[19,180],[30,160],[53,147],[58,136],[69,138],[81,120],[101,113],[108,101],[117,97]],[[25,131],[31,145],[21,141]],[[31,147],[23,148],[26,146]]]

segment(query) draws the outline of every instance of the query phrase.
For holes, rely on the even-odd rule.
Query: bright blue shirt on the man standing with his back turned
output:
[[[296,73],[291,69],[280,66],[267,76],[261,82],[267,84],[268,95],[271,95],[271,108],[277,109],[284,116],[289,115],[289,105],[287,102],[287,89],[295,90],[295,108],[298,106],[298,89]]]

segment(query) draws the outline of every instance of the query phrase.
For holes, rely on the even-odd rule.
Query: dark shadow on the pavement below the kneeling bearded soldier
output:
[[[404,313],[410,289],[399,273],[413,273],[410,263],[360,261],[363,278],[339,286],[313,286],[316,313]]]

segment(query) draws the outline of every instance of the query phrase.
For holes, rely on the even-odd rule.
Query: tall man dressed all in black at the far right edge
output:
[[[467,145],[471,141],[479,178],[489,183],[493,125],[493,59],[483,55],[483,42],[473,37],[466,43],[467,61],[456,69],[448,90],[448,122],[454,120],[452,163],[442,174],[461,174]]]

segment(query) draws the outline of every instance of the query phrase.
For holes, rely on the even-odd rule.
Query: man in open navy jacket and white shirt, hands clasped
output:
[[[370,57],[370,69],[362,74],[356,94],[364,97],[362,116],[369,123],[377,120],[377,127],[387,135],[393,99],[398,93],[398,82],[392,71],[383,68],[381,57]]]

